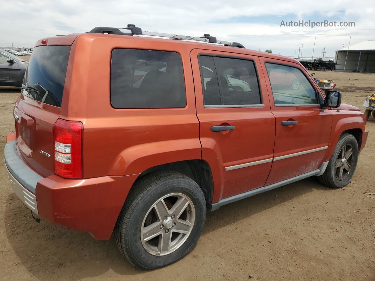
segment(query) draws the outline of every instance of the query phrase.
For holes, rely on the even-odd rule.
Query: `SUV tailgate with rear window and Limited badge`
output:
[[[53,127],[60,117],[71,46],[34,48],[14,108],[18,149],[42,176],[54,173]]]

